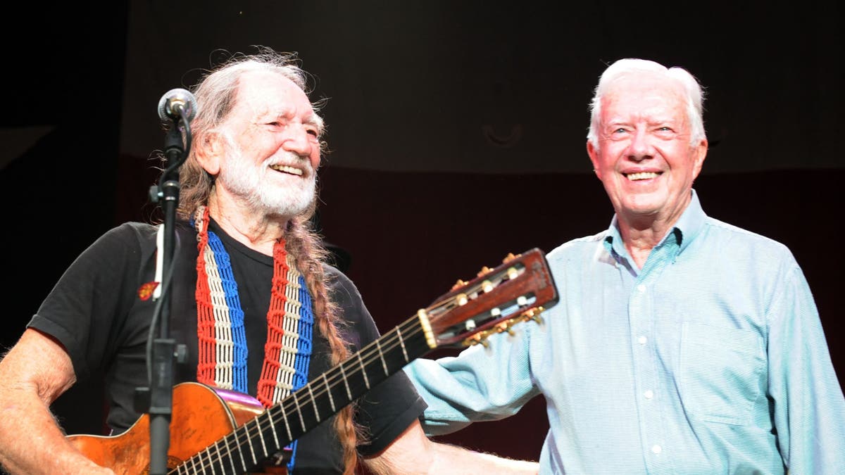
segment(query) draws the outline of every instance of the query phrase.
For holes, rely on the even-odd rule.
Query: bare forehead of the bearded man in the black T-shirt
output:
[[[271,71],[251,71],[238,81],[234,113],[249,117],[313,116],[308,96],[296,83]]]

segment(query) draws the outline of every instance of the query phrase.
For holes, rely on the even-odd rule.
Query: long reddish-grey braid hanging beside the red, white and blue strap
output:
[[[337,365],[350,355],[347,342],[341,336],[339,327],[340,314],[328,295],[323,262],[328,252],[321,243],[310,222],[297,216],[290,221],[286,232],[286,248],[297,263],[297,268],[305,276],[308,290],[312,295],[314,318],[319,332],[329,341],[331,363]],[[343,447],[344,475],[352,475],[357,467],[357,443],[363,440],[363,434],[352,418],[354,403],[341,409],[335,418],[335,430]]]

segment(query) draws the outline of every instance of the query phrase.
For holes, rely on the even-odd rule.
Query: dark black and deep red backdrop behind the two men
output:
[[[0,15],[7,96],[0,193],[14,343],[79,252],[145,220],[163,145],[161,95],[250,45],[299,52],[328,99],[320,220],[351,256],[381,330],[505,254],[608,226],[586,105],[620,57],[680,65],[706,85],[711,216],[786,243],[820,308],[840,381],[842,29],[834,1],[695,7],[590,2],[18,4]],[[96,385],[55,405],[96,433]],[[543,401],[444,440],[536,458]]]

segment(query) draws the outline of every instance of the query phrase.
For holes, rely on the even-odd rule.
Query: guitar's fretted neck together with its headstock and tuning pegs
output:
[[[509,254],[482,269],[417,316],[320,374],[231,434],[177,467],[177,473],[244,473],[333,416],[413,359],[436,347],[486,344],[495,333],[537,319],[558,302],[544,253]]]

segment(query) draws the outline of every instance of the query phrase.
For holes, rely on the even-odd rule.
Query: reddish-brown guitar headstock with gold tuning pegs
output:
[[[482,268],[471,281],[458,281],[417,314],[427,327],[428,347],[486,346],[488,336],[528,319],[539,321],[555,303],[558,290],[545,254],[532,248],[508,254],[494,269]]]

